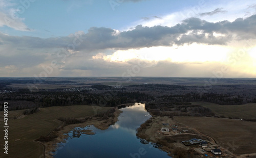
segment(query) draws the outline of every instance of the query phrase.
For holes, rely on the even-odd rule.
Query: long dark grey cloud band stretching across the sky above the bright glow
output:
[[[0,34],[2,45],[26,48],[69,48],[75,50],[129,49],[152,46],[172,46],[191,43],[223,45],[233,40],[256,38],[256,15],[238,18],[233,22],[208,22],[200,18],[188,18],[174,27],[143,27],[118,32],[110,28],[91,28],[88,33],[59,38],[18,37]],[[214,33],[225,36],[214,36]]]

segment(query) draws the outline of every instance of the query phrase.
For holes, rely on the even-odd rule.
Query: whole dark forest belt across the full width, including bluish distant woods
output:
[[[9,102],[9,110],[71,105],[116,107],[123,103],[134,102],[155,103],[158,106],[161,103],[175,104],[189,101],[207,101],[226,105],[256,102],[256,88],[248,85],[212,86],[203,92],[198,91],[204,88],[202,86],[164,84],[130,85],[123,88],[96,84],[90,86],[92,90],[65,91],[64,88],[58,88],[36,92],[26,88],[10,88],[9,85],[11,83],[0,84],[1,90],[12,91],[0,94],[0,102],[2,102],[0,111],[3,110],[3,102]]]

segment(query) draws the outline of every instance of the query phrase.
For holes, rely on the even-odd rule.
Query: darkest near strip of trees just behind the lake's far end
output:
[[[9,84],[9,83],[6,83]],[[6,86],[6,85],[5,85]],[[187,92],[172,94],[166,93],[155,95],[154,90],[159,88],[169,90],[186,90],[186,86],[175,85],[132,85],[130,88],[145,88],[145,91],[132,89],[116,90],[110,86],[94,85],[92,88],[98,89],[91,91],[40,91],[30,92],[29,89],[18,89],[13,93],[0,94],[0,111],[3,110],[3,102],[9,102],[9,110],[21,110],[34,107],[53,107],[53,106],[71,106],[71,105],[94,105],[104,107],[116,107],[123,103],[133,103],[139,101],[146,102],[189,102],[206,101],[218,104],[244,104],[247,102],[256,102],[256,98],[250,98],[243,95],[219,94],[219,93],[197,93]],[[148,91],[152,89],[152,91]],[[161,94],[161,93],[160,93]],[[248,99],[248,100],[247,100]],[[2,104],[1,104],[2,103]],[[167,107],[165,107],[167,108]],[[185,109],[183,109],[185,110]]]

